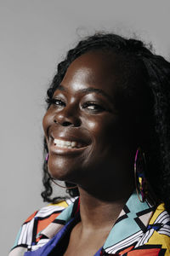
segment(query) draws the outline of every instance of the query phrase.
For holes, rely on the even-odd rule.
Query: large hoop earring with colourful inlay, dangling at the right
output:
[[[148,194],[148,184],[145,177],[146,160],[144,152],[138,148],[134,159],[134,179],[136,185],[136,192],[139,201],[144,202]]]

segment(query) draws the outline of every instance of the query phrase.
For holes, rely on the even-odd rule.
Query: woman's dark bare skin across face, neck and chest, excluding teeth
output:
[[[117,55],[99,50],[78,57],[43,118],[48,172],[77,183],[80,192],[81,222],[71,231],[65,256],[94,255],[134,189],[139,142],[134,132],[132,137],[130,107],[122,102],[120,63]],[[116,102],[122,102],[121,109]],[[81,147],[54,147],[54,139],[76,141]]]

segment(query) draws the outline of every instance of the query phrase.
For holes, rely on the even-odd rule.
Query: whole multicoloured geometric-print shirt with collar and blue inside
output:
[[[62,256],[80,221],[79,198],[42,207],[27,218],[9,256]],[[78,241],[77,241],[78,242]],[[170,215],[164,204],[152,207],[134,192],[94,256],[170,255]]]

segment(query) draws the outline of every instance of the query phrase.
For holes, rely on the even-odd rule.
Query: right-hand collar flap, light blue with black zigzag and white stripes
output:
[[[122,247],[122,244],[128,246],[143,236],[154,209],[155,207],[147,201],[139,201],[138,195],[134,191],[105,241],[104,249],[107,253],[113,252],[114,248],[116,252],[118,247]]]

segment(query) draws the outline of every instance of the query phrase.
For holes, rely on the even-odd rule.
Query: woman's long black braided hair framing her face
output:
[[[131,62],[138,61],[140,72],[145,78],[145,85],[150,90],[153,98],[152,102],[152,132],[150,136],[150,146],[147,152],[146,176],[156,194],[156,197],[165,203],[167,211],[170,212],[170,63],[161,55],[152,52],[151,46],[146,46],[137,39],[122,38],[113,33],[95,33],[93,36],[84,38],[74,49],[70,49],[64,61],[58,65],[57,73],[47,91],[47,103],[54,91],[59,86],[65,76],[67,68],[78,56],[91,50],[112,51],[117,55],[123,55],[127,61],[128,69],[132,69]],[[127,57],[127,58],[126,58]],[[133,65],[133,68],[134,65]],[[138,69],[139,66],[136,66]],[[138,72],[139,73],[139,70]],[[44,139],[44,155],[48,153],[46,141]],[[45,159],[45,157],[44,157]],[[45,190],[42,192],[43,201],[59,201],[60,197],[50,198],[53,193],[50,178],[48,177],[48,166],[43,163],[42,183]],[[65,183],[67,187],[70,183]],[[78,189],[67,189],[71,196],[78,195]]]

